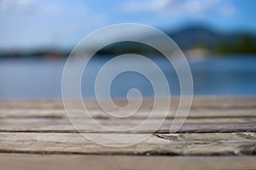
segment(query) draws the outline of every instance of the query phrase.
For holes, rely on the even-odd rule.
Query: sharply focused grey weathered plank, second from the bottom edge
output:
[[[148,134],[87,133],[103,144],[120,146]],[[144,136],[143,136],[144,135]],[[107,155],[242,156],[256,154],[256,133],[154,134],[137,145],[106,147],[79,133],[0,133],[0,152]]]

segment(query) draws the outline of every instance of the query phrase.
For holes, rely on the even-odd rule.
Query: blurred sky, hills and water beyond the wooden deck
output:
[[[61,98],[63,67],[74,46],[91,31],[124,22],[154,26],[177,42],[189,60],[195,95],[255,95],[255,7],[253,0],[0,0],[0,99]],[[102,65],[126,53],[153,59],[171,94],[179,95],[177,75],[158,51],[121,42],[90,60],[82,80],[84,98],[95,98]],[[125,61],[117,66],[122,65]],[[154,95],[148,80],[135,72],[116,77],[111,94],[123,98],[130,88]]]

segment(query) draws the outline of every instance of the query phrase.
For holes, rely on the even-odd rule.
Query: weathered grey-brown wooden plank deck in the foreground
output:
[[[125,101],[117,101],[124,105]],[[126,128],[142,123],[152,100],[143,102],[138,114],[113,119],[93,101],[86,101],[92,117],[102,126]],[[256,169],[256,97],[195,97],[183,127],[170,133],[172,112],[154,131],[161,114],[140,131],[95,128],[89,118],[73,115],[86,124],[81,133],[105,144],[142,143],[127,147],[95,144],[69,122],[59,99],[0,101],[1,169]],[[183,117],[179,117],[183,119]],[[152,126],[151,126],[152,125]]]

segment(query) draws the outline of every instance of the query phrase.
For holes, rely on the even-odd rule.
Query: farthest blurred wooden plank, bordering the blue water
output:
[[[114,102],[117,105],[125,105],[127,104],[127,100],[124,99],[116,99]],[[99,105],[94,100],[84,100],[86,106],[90,109],[99,109]],[[142,108],[148,109],[150,105],[152,105],[153,99],[143,99]],[[171,99],[171,107],[176,108],[179,103],[179,98],[172,97]],[[193,98],[192,108],[244,108],[256,107],[256,97],[248,97],[248,96],[225,96],[225,97],[217,97],[217,96],[195,96]],[[36,99],[36,100],[0,100],[0,108],[8,108],[8,109],[62,109],[63,104],[61,99]]]

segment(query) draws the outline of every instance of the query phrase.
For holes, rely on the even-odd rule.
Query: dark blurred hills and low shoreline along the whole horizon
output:
[[[224,33],[212,30],[212,28],[208,26],[199,25],[186,26],[177,31],[164,30],[164,32],[166,32],[169,37],[172,37],[183,52],[194,50],[197,52],[207,51],[207,54],[256,54],[256,34],[248,32]],[[162,48],[170,48],[166,42],[163,42],[160,37],[156,35],[148,35],[146,33],[141,39],[150,39],[157,42]],[[0,58],[62,58],[67,57],[69,51],[70,50],[63,51],[45,48],[31,51],[13,50],[3,52],[3,50],[0,50]],[[127,53],[160,55],[158,50],[139,42],[116,42],[97,52],[99,55],[119,55]]]

